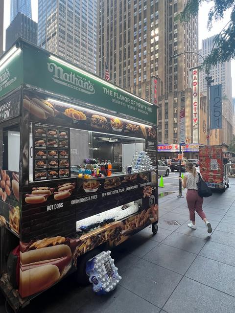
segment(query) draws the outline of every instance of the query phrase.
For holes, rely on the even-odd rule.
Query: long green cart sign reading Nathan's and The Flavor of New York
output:
[[[25,84],[157,124],[157,107],[150,102],[31,45],[25,44],[23,54]]]

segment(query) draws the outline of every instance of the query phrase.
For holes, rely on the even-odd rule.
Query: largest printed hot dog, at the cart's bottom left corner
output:
[[[24,298],[58,282],[71,268],[70,240],[57,236],[21,246],[20,288]]]

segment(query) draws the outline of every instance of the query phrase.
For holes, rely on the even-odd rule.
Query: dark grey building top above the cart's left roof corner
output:
[[[18,13],[6,29],[6,50],[19,38],[37,45],[38,24],[23,13]]]

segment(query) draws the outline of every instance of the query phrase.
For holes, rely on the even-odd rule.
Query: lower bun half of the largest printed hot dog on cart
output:
[[[56,265],[48,264],[25,271],[20,270],[19,293],[24,298],[31,294],[46,290],[60,278]]]

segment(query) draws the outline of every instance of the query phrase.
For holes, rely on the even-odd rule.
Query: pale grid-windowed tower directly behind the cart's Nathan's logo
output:
[[[38,45],[96,72],[96,0],[39,0]]]

